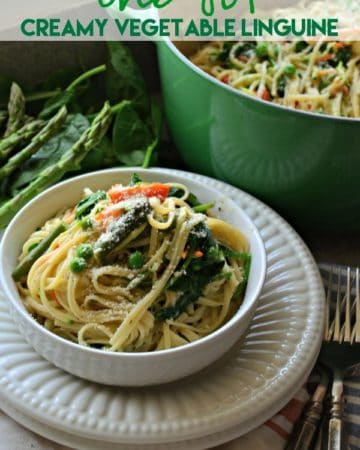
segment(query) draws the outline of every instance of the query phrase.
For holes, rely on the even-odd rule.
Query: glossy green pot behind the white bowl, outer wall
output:
[[[158,44],[167,120],[185,162],[262,199],[298,228],[360,229],[360,120],[250,97]]]

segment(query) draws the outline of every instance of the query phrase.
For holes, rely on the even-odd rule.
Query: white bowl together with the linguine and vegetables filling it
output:
[[[265,276],[261,239],[229,199],[171,172],[139,175],[130,186],[130,171],[117,170],[50,189],[1,248],[3,285],[29,342],[107,384],[172,381],[214,361],[246,329]]]

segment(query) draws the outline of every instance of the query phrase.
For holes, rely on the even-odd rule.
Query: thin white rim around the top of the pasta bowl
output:
[[[164,172],[164,170],[166,172]],[[8,236],[11,235],[13,228],[15,226],[19,226],[18,222],[21,221],[22,216],[24,214],[26,214],[26,212],[29,209],[31,209],[35,203],[41,203],[47,197],[56,195],[56,192],[59,190],[61,191],[61,189],[64,186],[68,186],[73,183],[77,183],[81,180],[86,180],[87,178],[90,178],[90,179],[96,178],[97,176],[100,176],[100,175],[104,176],[104,175],[110,174],[110,173],[129,173],[129,174],[131,174],[131,173],[134,173],[134,171],[136,171],[139,174],[151,173],[154,175],[158,174],[160,176],[164,176],[164,175],[171,175],[172,169],[165,169],[165,168],[160,168],[160,167],[154,167],[151,169],[142,169],[139,167],[111,168],[111,169],[98,170],[95,172],[89,172],[86,174],[82,174],[82,175],[70,178],[68,180],[62,181],[61,183],[55,184],[54,186],[51,186],[50,188],[46,189],[44,192],[38,194],[30,202],[28,202],[23,208],[21,208],[21,210],[11,220],[10,224],[6,227],[6,230],[2,236],[1,243],[0,243],[0,266],[4,267],[4,261],[6,260],[6,255],[5,255],[4,249],[5,249],[5,242],[8,239]],[[181,178],[182,175],[181,175],[181,173],[179,173],[179,171],[174,171],[174,172],[176,172],[173,174],[174,177],[179,177],[180,179],[182,179]],[[188,173],[191,173],[191,172],[188,172]],[[196,174],[193,174],[193,175],[196,175]],[[196,179],[185,180],[185,182],[186,181],[191,181],[196,184],[201,184]],[[207,189],[207,190],[209,189],[208,186],[205,186],[205,185],[203,185],[203,186],[204,186],[204,189]],[[217,191],[217,189],[215,189],[215,188],[211,188],[210,190]],[[217,191],[217,192],[219,192],[221,194],[220,191]],[[35,327],[41,334],[44,334],[46,337],[48,337],[50,339],[55,339],[60,345],[69,346],[70,349],[73,349],[76,352],[85,352],[85,353],[88,353],[89,355],[94,355],[95,357],[100,357],[100,358],[102,358],[102,357],[109,358],[110,357],[112,359],[113,358],[114,359],[126,358],[127,361],[131,363],[131,362],[135,362],[136,360],[139,360],[139,359],[144,360],[144,358],[145,359],[160,358],[163,360],[163,359],[166,359],[169,355],[176,356],[178,353],[184,354],[185,352],[192,352],[195,349],[204,347],[209,342],[216,340],[218,338],[221,338],[221,335],[223,333],[225,333],[227,331],[227,329],[234,327],[236,325],[236,323],[238,323],[238,321],[241,321],[244,318],[244,316],[246,316],[249,313],[249,311],[253,307],[254,303],[256,303],[260,297],[260,294],[261,294],[261,291],[263,289],[263,285],[265,282],[265,278],[266,278],[267,258],[266,258],[264,242],[260,236],[260,233],[259,233],[256,225],[254,224],[254,222],[248,216],[248,214],[245,213],[245,211],[242,208],[240,208],[231,198],[228,198],[228,197],[226,197],[226,198],[227,198],[227,201],[232,203],[236,207],[236,209],[238,211],[240,211],[240,213],[242,214],[245,221],[247,221],[248,224],[251,225],[252,233],[254,234],[255,240],[259,247],[259,253],[260,253],[260,258],[261,258],[260,264],[259,264],[259,266],[260,266],[259,280],[256,285],[256,289],[254,290],[254,293],[252,294],[252,297],[251,297],[250,301],[248,302],[248,305],[243,308],[243,310],[241,311],[241,314],[238,317],[236,317],[236,315],[234,315],[230,320],[228,320],[226,323],[224,323],[220,328],[213,331],[209,335],[202,337],[201,339],[199,339],[197,341],[190,342],[190,343],[180,346],[180,347],[175,347],[175,348],[166,349],[166,350],[157,350],[157,351],[152,351],[152,352],[133,352],[133,353],[123,352],[123,351],[122,352],[111,352],[111,351],[106,351],[106,350],[102,350],[102,349],[96,349],[96,348],[82,346],[75,342],[68,341],[65,338],[62,338],[62,337],[58,336],[57,334],[52,333],[51,331],[47,330],[40,323],[38,323],[36,321],[36,319],[25,308],[22,308],[20,306],[20,302],[19,302],[19,300],[21,300],[20,295],[17,293],[18,299],[14,299],[14,296],[12,293],[11,283],[14,283],[14,282],[11,278],[11,275],[9,278],[7,278],[5,276],[4,270],[0,270],[0,283],[1,283],[1,287],[5,291],[7,301],[9,301],[12,304],[12,306],[16,309],[17,314],[20,314],[23,319],[25,319],[28,323],[30,323],[32,327]],[[241,310],[241,306],[242,305],[240,305],[238,311]]]

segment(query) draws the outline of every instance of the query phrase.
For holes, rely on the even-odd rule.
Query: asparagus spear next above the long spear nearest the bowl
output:
[[[30,144],[9,159],[9,161],[0,168],[0,179],[8,177],[16,169],[36,153],[55,133],[58,132],[62,124],[65,122],[67,116],[66,107],[63,106],[58,113],[47,123],[36,136],[34,136]]]

